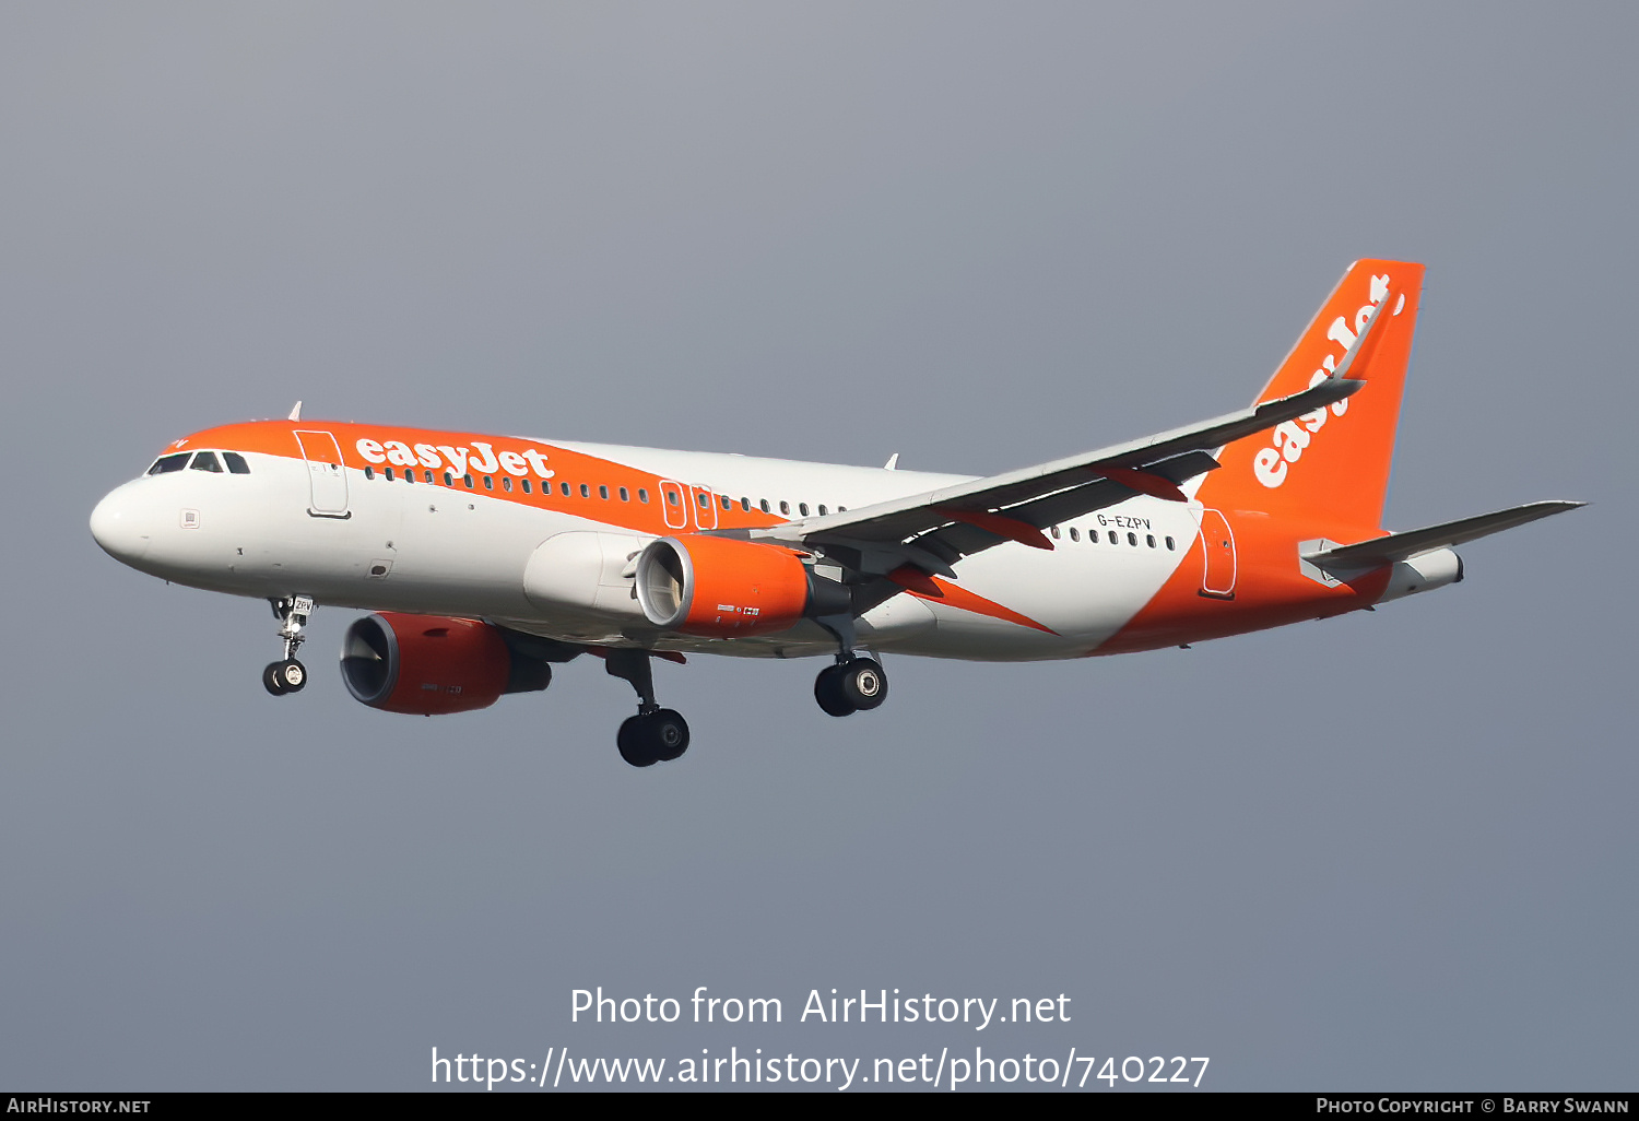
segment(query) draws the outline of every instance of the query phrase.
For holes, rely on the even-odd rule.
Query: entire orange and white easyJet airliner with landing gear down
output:
[[[688,724],[651,660],[826,657],[831,716],[885,654],[1126,654],[1370,611],[1462,580],[1455,546],[1578,502],[1382,526],[1423,266],[1357,261],[1251,408],[1000,475],[310,421],[169,444],[92,511],[115,559],[266,598],[303,688],[318,605],[357,608],[341,677],[392,713],[487,708],[590,654],[638,693],[634,767]]]

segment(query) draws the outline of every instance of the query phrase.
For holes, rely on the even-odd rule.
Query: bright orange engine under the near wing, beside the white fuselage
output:
[[[644,547],[638,603],[656,626],[703,638],[772,634],[851,608],[846,587],[815,577],[790,549],[693,533]]]

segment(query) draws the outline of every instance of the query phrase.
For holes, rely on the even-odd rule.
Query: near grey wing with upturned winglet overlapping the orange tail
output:
[[[1113,506],[1134,493],[1183,502],[1178,483],[1218,467],[1211,456],[1218,447],[1365,387],[1344,377],[1346,372],[1347,357],[1337,374],[1292,397],[1036,467],[752,529],[751,539],[821,547],[849,567],[877,575],[911,564],[954,577],[956,560],[1003,541],[1051,549],[1041,533],[1044,526]]]

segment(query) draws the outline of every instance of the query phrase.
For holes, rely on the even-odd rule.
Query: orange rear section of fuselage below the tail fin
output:
[[[1321,538],[1314,526],[1296,526],[1252,511],[1228,511],[1224,516],[1236,542],[1234,598],[1201,595],[1206,557],[1196,534],[1160,592],[1092,654],[1154,651],[1329,618],[1370,606],[1388,587],[1387,567],[1367,572],[1354,583],[1331,588],[1303,575],[1298,569],[1298,542]],[[1328,529],[1337,533],[1336,524]],[[1382,533],[1377,528],[1362,529],[1344,539],[1364,541]]]

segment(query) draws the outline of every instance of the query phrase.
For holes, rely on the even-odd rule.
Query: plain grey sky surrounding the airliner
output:
[[[1213,1088],[1632,1088],[1631,5],[0,10],[0,1085],[441,1054],[1211,1055]],[[267,608],[95,500],[310,416],[993,472],[1247,403],[1429,266],[1390,524],[1595,505],[1375,615],[1123,659],[274,701]],[[780,996],[769,1029],[569,992]],[[1067,993],[797,1024],[810,988]]]

